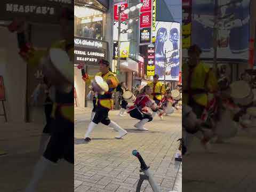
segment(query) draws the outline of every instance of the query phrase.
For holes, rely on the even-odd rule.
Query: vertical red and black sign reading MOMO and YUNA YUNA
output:
[[[140,44],[150,44],[152,41],[152,1],[140,0]]]

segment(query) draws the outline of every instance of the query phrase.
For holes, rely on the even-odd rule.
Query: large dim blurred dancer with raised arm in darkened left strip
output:
[[[70,63],[74,59],[74,11],[68,8],[62,10],[60,15],[60,26],[63,40],[54,42],[49,48],[57,48],[69,55]],[[49,55],[49,50],[37,50],[28,44],[25,35],[25,25],[23,21],[19,21],[17,30],[18,45],[21,57],[27,62],[28,67],[36,66],[41,63],[44,57]],[[71,66],[70,66],[71,67]],[[49,74],[49,81],[59,83],[56,85],[56,98],[52,107],[52,116],[55,125],[50,141],[46,150],[39,161],[35,165],[34,174],[31,178],[26,192],[36,191],[37,185],[47,169],[57,163],[60,159],[65,159],[74,166],[74,78],[71,79],[70,71],[66,71],[66,78],[58,73],[55,77]],[[59,79],[62,77],[63,81]],[[65,80],[64,80],[65,79]]]

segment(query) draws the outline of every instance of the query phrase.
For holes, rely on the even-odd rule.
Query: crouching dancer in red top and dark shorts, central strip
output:
[[[127,110],[127,113],[129,113],[131,117],[140,120],[139,123],[134,125],[134,127],[136,127],[139,130],[148,131],[148,129],[146,129],[144,125],[147,122],[153,120],[153,117],[149,113],[148,108],[155,112],[161,111],[159,110],[159,106],[156,105],[154,100],[151,100],[149,97],[149,95],[151,95],[152,92],[153,90],[149,85],[144,86],[143,89],[141,90],[141,93],[137,96],[134,105]],[[163,113],[163,111],[161,111],[161,113]]]

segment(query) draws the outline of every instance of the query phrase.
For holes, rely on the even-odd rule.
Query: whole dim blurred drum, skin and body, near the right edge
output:
[[[233,98],[235,103],[246,106],[253,101],[253,92],[249,83],[246,81],[236,81],[230,85],[230,89],[230,96]]]

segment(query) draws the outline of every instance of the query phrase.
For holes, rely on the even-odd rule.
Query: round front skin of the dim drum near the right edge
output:
[[[236,81],[230,85],[231,97],[234,99],[243,99],[251,93],[250,85],[245,81]]]

